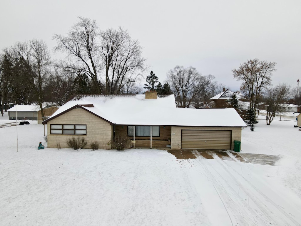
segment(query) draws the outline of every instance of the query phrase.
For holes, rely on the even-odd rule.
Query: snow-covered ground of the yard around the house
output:
[[[242,152],[282,155],[276,166],[156,149],[38,150],[43,125],[2,127],[0,225],[301,225],[301,131],[263,118],[242,131]]]

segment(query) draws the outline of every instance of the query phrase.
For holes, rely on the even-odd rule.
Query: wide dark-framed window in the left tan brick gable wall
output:
[[[87,125],[50,124],[50,134],[86,135]]]

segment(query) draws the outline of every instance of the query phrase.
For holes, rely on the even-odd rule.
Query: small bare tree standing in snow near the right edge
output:
[[[280,105],[290,97],[290,86],[286,83],[279,84],[267,89],[265,93],[265,102],[267,104],[266,124],[270,125],[279,111]]]

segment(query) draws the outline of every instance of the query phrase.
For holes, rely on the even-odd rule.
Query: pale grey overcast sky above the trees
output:
[[[236,91],[231,70],[254,58],[276,62],[273,84],[301,79],[300,0],[2,0],[0,49],[39,38],[55,59],[53,34],[65,35],[77,16],[127,29],[161,83],[176,65],[193,66]]]

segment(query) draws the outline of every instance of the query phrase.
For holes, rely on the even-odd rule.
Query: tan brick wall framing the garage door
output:
[[[181,149],[182,130],[232,130],[231,149],[234,148],[234,140],[241,141],[241,127],[180,127],[171,128],[171,149]],[[173,135],[174,134],[174,135]],[[241,146],[240,146],[241,148]]]

